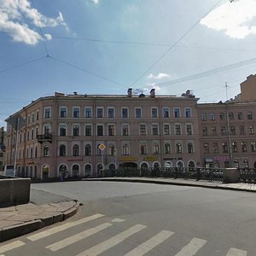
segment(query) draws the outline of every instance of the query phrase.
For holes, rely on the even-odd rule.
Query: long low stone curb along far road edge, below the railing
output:
[[[224,190],[233,190],[233,191],[244,191],[244,192],[252,192],[255,193],[254,189],[241,189],[235,187],[224,186],[222,183],[214,184],[214,183],[182,183],[182,182],[172,182],[165,180],[155,180],[155,179],[137,179],[137,178],[83,178],[84,181],[108,181],[108,182],[131,182],[131,183],[154,183],[154,184],[162,184],[162,185],[176,185],[176,186],[188,186],[188,187],[200,187],[205,189],[224,189]]]

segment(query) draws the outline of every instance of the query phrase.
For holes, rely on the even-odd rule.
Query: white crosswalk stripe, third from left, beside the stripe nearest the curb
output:
[[[88,236],[92,236],[93,234],[96,234],[99,231],[105,230],[108,227],[112,226],[113,224],[111,223],[104,223],[101,225],[96,226],[95,228],[91,228],[89,230],[84,230],[83,232],[80,232],[74,236],[69,236],[66,239],[63,239],[61,241],[57,241],[51,245],[49,245],[48,248],[49,250],[51,250],[52,252],[58,251],[64,247],[67,247],[71,244],[73,244],[74,242],[83,240],[84,238],[88,237]]]

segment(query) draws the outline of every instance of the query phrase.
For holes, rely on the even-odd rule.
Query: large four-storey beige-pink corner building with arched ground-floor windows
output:
[[[28,177],[200,166],[197,101],[189,90],[183,96],[156,96],[154,90],[137,96],[129,89],[125,96],[41,97],[6,119],[6,161],[16,162],[17,174]],[[17,116],[25,123],[16,133]]]

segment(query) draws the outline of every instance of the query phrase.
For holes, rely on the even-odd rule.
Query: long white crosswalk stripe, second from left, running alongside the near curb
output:
[[[77,221],[69,222],[67,224],[62,224],[62,225],[57,226],[55,228],[45,230],[43,232],[40,232],[40,233],[32,235],[32,236],[27,236],[26,238],[30,241],[37,241],[37,240],[42,239],[46,236],[53,235],[53,234],[58,233],[60,231],[67,230],[67,229],[72,228],[74,226],[77,226],[79,224],[84,224],[86,222],[89,222],[90,220],[94,220],[96,218],[101,218],[103,216],[104,216],[103,214],[97,213],[97,214],[91,215],[91,216],[86,217],[86,218],[81,218]]]

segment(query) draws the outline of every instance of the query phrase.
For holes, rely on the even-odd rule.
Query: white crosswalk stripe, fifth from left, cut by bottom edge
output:
[[[126,253],[125,256],[140,256],[148,253],[154,247],[158,246],[161,242],[165,241],[167,238],[172,236],[174,232],[162,230],[155,236],[152,236],[147,241],[143,242],[138,247],[134,248],[131,252]]]

